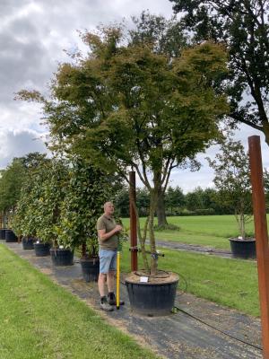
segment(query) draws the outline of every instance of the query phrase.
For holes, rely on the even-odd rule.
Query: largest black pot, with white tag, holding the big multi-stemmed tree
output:
[[[159,283],[140,283],[134,275],[126,277],[126,288],[133,311],[148,316],[168,315],[174,308],[178,275]]]

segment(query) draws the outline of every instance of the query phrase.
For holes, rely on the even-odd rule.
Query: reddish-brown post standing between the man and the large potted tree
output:
[[[129,172],[129,200],[130,200],[130,239],[131,239],[131,271],[137,270],[137,221],[134,211],[136,201],[135,172]]]

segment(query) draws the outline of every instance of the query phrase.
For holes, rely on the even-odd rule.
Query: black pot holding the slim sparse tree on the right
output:
[[[256,240],[239,240],[239,238],[230,238],[230,250],[235,258],[256,258]]]

